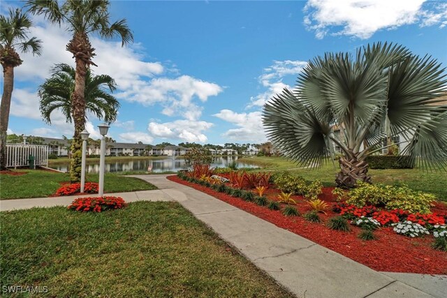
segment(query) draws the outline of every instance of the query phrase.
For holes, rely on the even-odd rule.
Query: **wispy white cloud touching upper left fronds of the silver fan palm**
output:
[[[272,66],[264,68],[263,74],[258,77],[259,83],[267,90],[250,98],[250,107],[263,107],[265,103],[275,94],[281,93],[284,88],[290,88],[288,84],[282,82],[283,78],[289,75],[296,76],[307,65],[306,61],[273,61]]]

